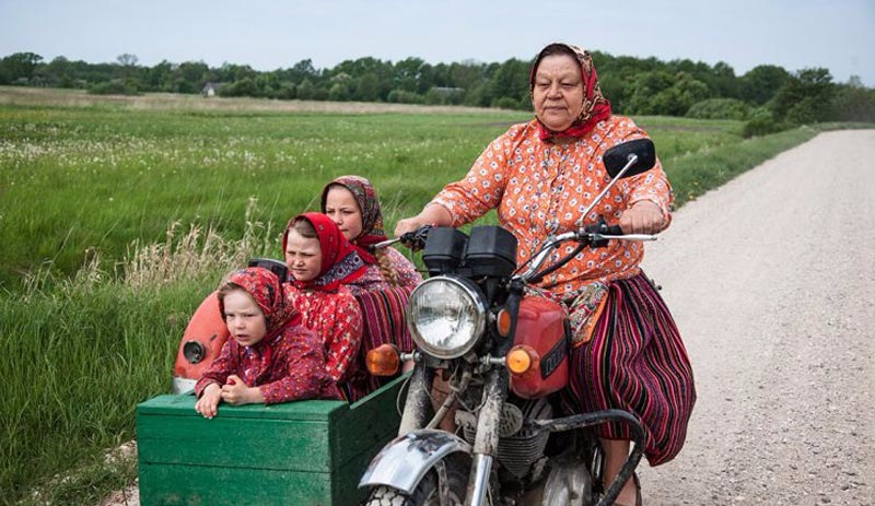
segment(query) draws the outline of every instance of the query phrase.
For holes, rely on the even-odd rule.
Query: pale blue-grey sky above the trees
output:
[[[90,63],[135,55],[248,64],[374,57],[429,63],[528,60],[551,42],[614,56],[829,70],[875,87],[875,0],[0,0],[0,57]]]

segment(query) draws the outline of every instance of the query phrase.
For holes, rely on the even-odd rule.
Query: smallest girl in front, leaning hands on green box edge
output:
[[[218,298],[231,339],[195,386],[195,410],[211,419],[220,402],[340,399],[326,372],[322,342],[298,325],[300,315],[276,274],[260,268],[233,272]]]

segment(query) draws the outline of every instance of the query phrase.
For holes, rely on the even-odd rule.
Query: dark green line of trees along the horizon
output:
[[[833,82],[824,68],[790,72],[763,64],[736,75],[725,62],[615,57],[594,51],[602,90],[616,113],[747,121],[748,134],[819,121],[875,121],[875,89],[858,77]],[[112,63],[34,52],[0,59],[0,84],[85,89],[95,94],[215,93],[276,99],[466,105],[530,110],[532,60],[472,60],[431,64],[409,57],[392,62],[372,57],[317,69],[311,59],[273,71],[247,64],[210,68],[202,61],[147,67],[135,55]]]

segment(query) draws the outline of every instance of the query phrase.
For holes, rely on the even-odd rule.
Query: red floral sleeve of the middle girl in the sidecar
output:
[[[355,297],[343,289],[337,292],[335,325],[328,341],[326,368],[335,381],[346,379],[362,343],[362,310]]]

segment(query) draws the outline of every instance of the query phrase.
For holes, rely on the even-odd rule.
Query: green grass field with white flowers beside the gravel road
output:
[[[278,257],[285,221],[316,209],[326,181],[371,178],[390,231],[528,119],[83,96],[0,87],[0,504],[95,504],[130,480],[104,452],[133,436],[138,402],[168,389],[188,315],[232,266]],[[816,134],[635,119],[678,205]]]

